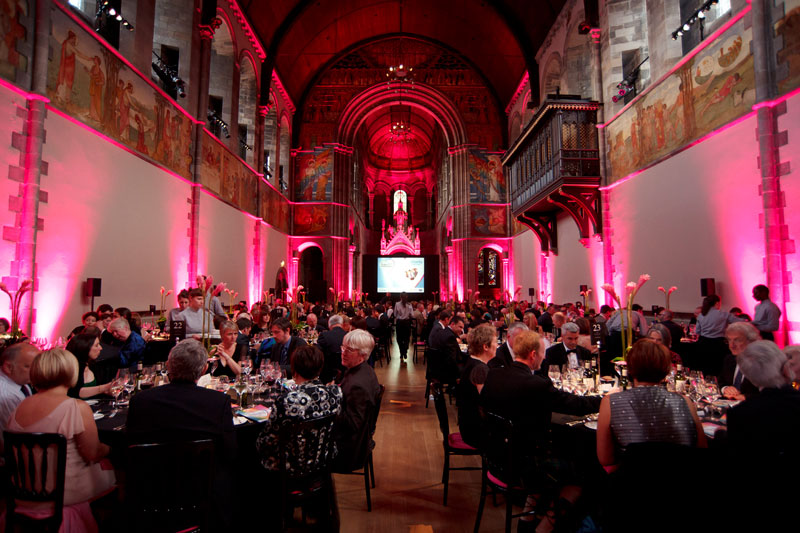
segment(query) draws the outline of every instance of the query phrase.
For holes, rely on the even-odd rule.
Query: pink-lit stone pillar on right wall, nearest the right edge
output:
[[[770,299],[781,311],[781,326],[775,332],[779,345],[788,343],[788,317],[786,302],[789,300],[791,273],[786,268],[788,228],[784,223],[785,200],[781,191],[781,176],[789,172],[789,164],[780,160],[780,135],[778,116],[786,112],[786,103],[777,106],[758,105],[777,96],[775,83],[775,43],[773,21],[769,0],[752,0],[753,70],[756,82],[757,136],[761,183],[759,190],[763,205],[764,249],[766,257],[765,284],[770,289]]]

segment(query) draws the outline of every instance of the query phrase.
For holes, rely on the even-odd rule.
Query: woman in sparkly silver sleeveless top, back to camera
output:
[[[706,437],[694,404],[661,385],[672,368],[667,347],[640,339],[628,353],[627,362],[633,388],[609,394],[600,403],[597,421],[600,464],[614,470],[622,452],[634,443],[664,442],[705,448]]]

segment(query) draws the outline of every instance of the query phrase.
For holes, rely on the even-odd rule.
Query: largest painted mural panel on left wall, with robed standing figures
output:
[[[191,179],[191,120],[56,7],[47,96],[87,126]]]

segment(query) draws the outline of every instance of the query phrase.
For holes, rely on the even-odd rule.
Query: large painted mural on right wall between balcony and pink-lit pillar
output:
[[[751,35],[739,21],[606,126],[611,182],[751,110]]]

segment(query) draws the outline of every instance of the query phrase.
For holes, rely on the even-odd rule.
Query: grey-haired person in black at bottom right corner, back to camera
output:
[[[738,360],[760,393],[727,412],[733,465],[727,486],[744,489],[732,494],[736,507],[731,509],[758,509],[752,516],[736,513],[739,530],[786,530],[797,513],[797,493],[791,487],[800,477],[800,392],[786,384],[787,359],[774,342],[753,342]],[[741,518],[755,523],[739,523]]]

